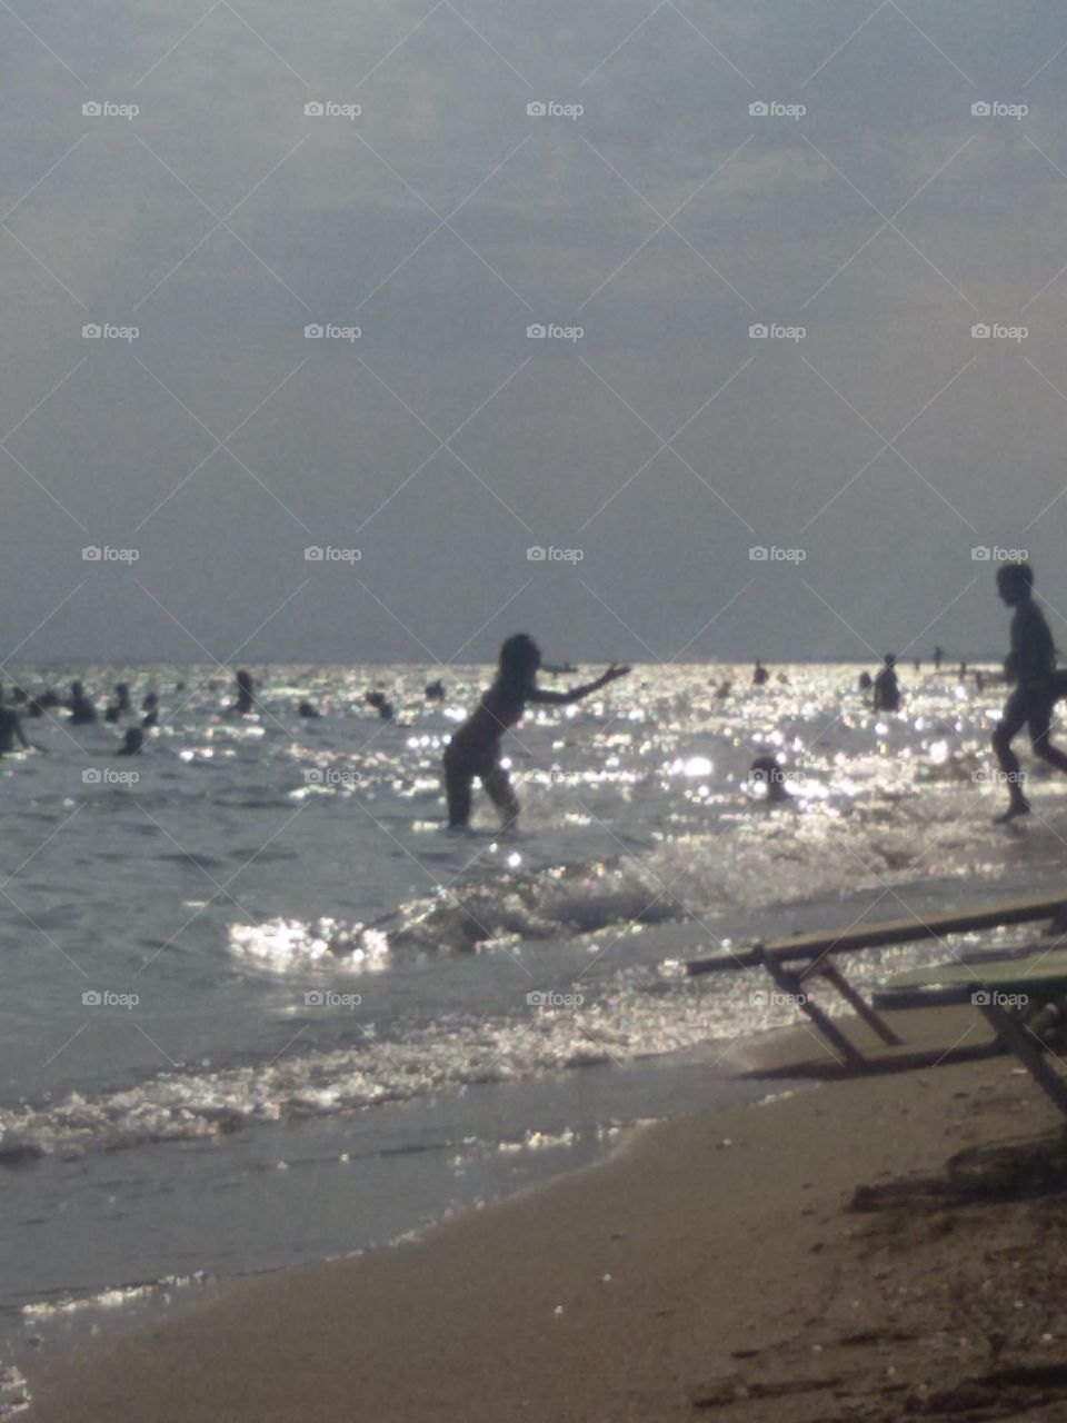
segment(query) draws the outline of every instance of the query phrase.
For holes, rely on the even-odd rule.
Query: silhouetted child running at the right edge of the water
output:
[[[1012,619],[1012,650],[1004,662],[1004,677],[1014,682],[1016,689],[1004,703],[993,731],[993,751],[1004,773],[1009,794],[1007,810],[994,820],[997,825],[1016,815],[1026,815],[1030,810],[1020,784],[1019,757],[1012,750],[1012,741],[1023,727],[1030,731],[1034,756],[1057,771],[1067,771],[1067,756],[1049,740],[1053,706],[1063,689],[1057,686],[1053,635],[1034,602],[1033,586],[1034,571],[1029,564],[1003,564],[997,569],[997,592],[1016,610]]]

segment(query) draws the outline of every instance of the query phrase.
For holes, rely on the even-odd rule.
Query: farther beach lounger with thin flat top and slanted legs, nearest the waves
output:
[[[805,982],[818,978],[845,999],[852,1010],[891,1047],[901,1046],[901,1039],[882,1020],[856,989],[846,980],[839,959],[846,953],[866,949],[881,949],[898,943],[915,943],[922,939],[943,939],[949,933],[975,933],[982,929],[1000,929],[1013,924],[1037,924],[1047,921],[1058,928],[1067,915],[1067,898],[1043,895],[1033,899],[1007,899],[986,904],[977,909],[960,909],[950,914],[935,914],[926,919],[912,915],[908,919],[889,919],[881,924],[858,924],[838,933],[798,933],[788,939],[770,943],[755,943],[737,953],[716,953],[706,959],[691,959],[686,965],[690,976],[717,973],[733,969],[764,968],[778,988],[797,999],[827,1042],[854,1067],[866,1066],[859,1047],[845,1030],[805,992]]]

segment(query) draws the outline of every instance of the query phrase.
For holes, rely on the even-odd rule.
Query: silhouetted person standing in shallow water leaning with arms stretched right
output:
[[[444,754],[445,795],[448,797],[448,828],[465,827],[471,818],[471,785],[475,776],[501,814],[502,827],[514,828],[519,803],[508,773],[501,766],[501,739],[516,726],[528,703],[570,706],[592,696],[629,667],[615,663],[596,682],[569,692],[543,692],[536,682],[541,649],[525,632],[515,633],[501,647],[497,680],[478,703],[475,712],[458,729]]]

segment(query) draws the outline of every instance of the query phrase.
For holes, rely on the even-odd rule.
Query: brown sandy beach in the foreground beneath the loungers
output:
[[[656,1124],[421,1239],[184,1306],[34,1379],[33,1417],[1063,1419],[1061,1138],[1009,1057]]]

